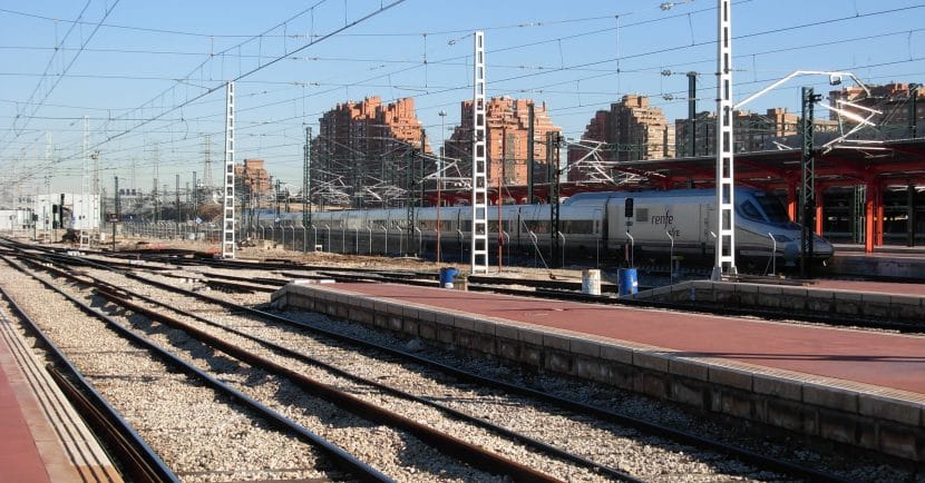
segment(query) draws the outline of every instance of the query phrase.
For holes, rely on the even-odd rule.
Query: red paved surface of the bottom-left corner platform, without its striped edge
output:
[[[48,482],[46,464],[29,430],[22,404],[33,403],[26,376],[0,337],[0,482]],[[35,410],[35,407],[32,407]]]

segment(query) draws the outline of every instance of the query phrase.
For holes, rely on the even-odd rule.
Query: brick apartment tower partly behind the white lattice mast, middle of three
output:
[[[488,100],[485,110],[488,146],[488,184],[498,185],[504,172],[505,185],[527,184],[527,129],[529,128],[530,99],[496,97]],[[461,125],[454,129],[446,141],[446,156],[460,160],[461,176],[471,174],[473,158],[473,101],[460,105]],[[546,105],[534,105],[534,183],[546,183],[546,134],[561,132],[553,126]],[[502,162],[503,160],[503,162]],[[448,176],[459,176],[448,174]],[[524,203],[525,200],[517,200]]]

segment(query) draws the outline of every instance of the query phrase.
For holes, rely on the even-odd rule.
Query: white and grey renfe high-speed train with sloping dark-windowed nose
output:
[[[800,254],[800,226],[792,223],[773,195],[737,188],[736,252],[746,260],[770,259],[778,266],[793,266]],[[488,207],[489,256],[500,240],[506,254],[546,256],[552,245],[549,205],[503,205]],[[715,190],[583,193],[559,207],[556,237],[566,259],[624,259],[632,247],[637,258],[666,258],[670,252],[685,260],[713,260],[717,214]],[[259,214],[259,227],[275,227],[279,238],[285,228],[299,227],[302,214]],[[629,216],[627,216],[629,215]],[[409,225],[410,216],[410,225]],[[312,214],[310,241],[321,249],[357,254],[436,253],[465,259],[469,249],[471,208],[468,206],[391,209],[344,209]],[[498,218],[502,233],[498,236]],[[283,235],[285,236],[285,235]],[[294,229],[293,229],[294,236]],[[301,236],[301,235],[300,235]],[[812,236],[814,262],[833,256],[830,243]]]

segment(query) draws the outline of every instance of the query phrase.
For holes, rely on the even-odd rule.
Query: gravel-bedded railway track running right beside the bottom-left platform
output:
[[[26,267],[13,265],[29,273]],[[62,352],[76,361],[78,374],[114,401],[108,404],[121,414],[120,418],[134,422],[147,438],[154,440],[152,451],[171,466],[164,475],[140,481],[255,475],[339,480],[348,474],[363,481],[391,481],[337,445],[165,351],[118,316],[104,314],[49,279],[33,278],[53,294],[46,297],[61,298],[62,303],[56,304],[56,312],[61,310],[58,316],[68,315],[70,324],[88,329],[82,336],[59,341],[59,345],[68,345]],[[60,327],[49,327],[49,321],[42,325],[36,324],[40,332],[60,335]],[[157,404],[152,406],[153,402]],[[169,418],[153,423],[153,413],[162,411],[169,412]],[[214,418],[223,422],[217,430],[212,425]],[[286,454],[296,464],[267,465],[267,461],[273,461],[270,455],[278,453]]]

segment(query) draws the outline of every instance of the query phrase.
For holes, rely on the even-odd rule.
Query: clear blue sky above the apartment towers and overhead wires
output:
[[[715,1],[663,9],[661,1],[407,0],[377,13],[390,3],[3,0],[7,179],[43,191],[50,170],[52,190],[79,189],[88,116],[103,186],[111,189],[113,176],[132,186],[134,171],[135,187],[149,190],[158,159],[162,188],[173,190],[175,174],[184,187],[194,170],[202,177],[206,134],[217,183],[221,86],[243,76],[236,158],[265,159],[272,175],[298,189],[303,126],[317,126],[338,102],[415,97],[430,139],[439,140],[440,110],[447,129],[458,124],[459,103],[471,97],[478,29],[486,32],[488,95],[545,101],[567,137],[581,137],[595,110],[626,93],[650,96],[670,119],[685,117],[688,71],[700,73],[699,110],[714,109]],[[870,83],[925,81],[925,2],[740,0],[732,20],[736,99],[795,70],[850,70]],[[829,90],[827,78],[805,78],[748,107],[798,111],[807,85]]]

